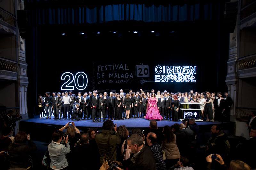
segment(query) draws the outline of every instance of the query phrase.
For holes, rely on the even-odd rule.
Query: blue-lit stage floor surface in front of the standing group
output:
[[[53,117],[52,117],[53,118]],[[55,119],[39,119],[39,117],[31,118],[28,120],[24,120],[22,122],[30,122],[30,123],[39,123],[39,124],[48,124],[48,125],[65,125],[68,122],[75,122],[75,125],[77,127],[102,127],[103,121],[101,122],[93,122],[92,119],[89,120],[79,120],[79,121],[72,121],[70,120],[55,120]],[[128,128],[147,128],[149,127],[149,122],[150,120],[146,120],[144,118],[130,118],[130,119],[122,119],[122,120],[113,120],[117,126],[119,125],[125,125]],[[181,123],[181,121],[174,122],[174,121],[169,121],[169,120],[161,120],[157,121],[157,126],[158,127],[164,127],[166,125],[172,126],[174,123]],[[199,121],[196,122],[199,126],[200,125],[213,125],[213,124],[220,124],[221,122],[205,122],[205,121]]]

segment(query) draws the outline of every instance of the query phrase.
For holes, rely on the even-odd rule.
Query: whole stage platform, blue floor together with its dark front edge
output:
[[[20,130],[25,131],[33,137],[33,140],[49,142],[51,141],[52,133],[61,127],[63,127],[68,122],[75,122],[76,127],[79,130],[87,132],[89,128],[97,129],[98,131],[102,130],[103,121],[93,122],[92,119],[89,120],[79,120],[72,121],[70,120],[55,120],[55,119],[39,119],[39,117],[30,118],[27,120],[20,121]],[[117,126],[125,125],[127,129],[131,132],[133,128],[140,128],[141,130],[146,130],[149,127],[150,120],[144,118],[131,118],[131,119],[122,119],[122,120],[113,120]],[[165,125],[172,126],[174,123],[181,123],[181,121],[174,122],[169,120],[157,121],[157,126],[159,129],[162,129]],[[210,135],[210,129],[214,124],[221,124],[222,122],[205,122],[198,121],[196,122],[199,125],[199,133],[204,137]],[[222,128],[228,135],[234,134],[235,122],[223,122]],[[207,135],[205,135],[207,133]],[[201,136],[200,135],[200,136]],[[204,138],[203,137],[203,138]]]

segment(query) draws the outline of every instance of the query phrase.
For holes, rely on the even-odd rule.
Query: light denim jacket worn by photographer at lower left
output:
[[[48,150],[51,159],[50,167],[52,169],[58,170],[68,166],[66,154],[70,152],[69,142],[66,144],[60,144],[52,141],[52,143],[48,145]]]

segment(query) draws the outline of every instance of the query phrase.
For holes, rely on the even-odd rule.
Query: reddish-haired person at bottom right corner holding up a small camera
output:
[[[214,160],[216,163],[220,164],[219,169],[228,170],[227,165],[223,161],[222,157],[218,154],[216,154],[214,156],[212,156],[212,154],[211,154],[206,157],[206,161],[207,161],[206,170],[212,169],[211,168],[212,160]],[[244,163],[243,161],[232,160],[229,165],[229,170],[251,170],[251,167],[248,164]]]

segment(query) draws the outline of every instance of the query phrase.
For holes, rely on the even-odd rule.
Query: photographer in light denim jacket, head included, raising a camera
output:
[[[51,169],[67,169],[68,161],[66,154],[70,152],[68,135],[63,135],[60,130],[53,132],[52,143],[48,145],[48,151],[51,159]]]

